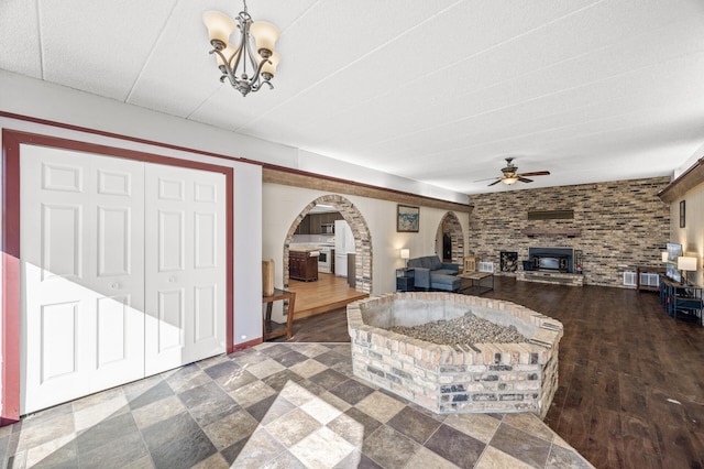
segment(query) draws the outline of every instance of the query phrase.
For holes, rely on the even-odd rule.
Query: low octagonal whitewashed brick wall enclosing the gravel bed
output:
[[[514,325],[525,343],[441,346],[386,330],[471,312]],[[452,293],[394,293],[348,305],[354,374],[436,413],[532,412],[558,389],[562,324],[524,306]]]

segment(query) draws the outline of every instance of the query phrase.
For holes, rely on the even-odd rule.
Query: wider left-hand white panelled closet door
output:
[[[21,148],[21,413],[144,375],[143,163]]]

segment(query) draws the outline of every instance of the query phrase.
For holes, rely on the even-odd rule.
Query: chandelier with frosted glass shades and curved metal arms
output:
[[[278,40],[278,29],[265,21],[252,21],[246,12],[246,1],[242,0],[244,11],[235,18],[219,11],[206,11],[202,21],[208,28],[210,45],[216,54],[218,68],[222,73],[220,81],[228,79],[230,85],[246,96],[250,91],[258,91],[263,85],[274,88],[271,79],[276,74],[276,65],[280,56],[274,52]],[[237,44],[230,43],[230,35],[239,29]]]

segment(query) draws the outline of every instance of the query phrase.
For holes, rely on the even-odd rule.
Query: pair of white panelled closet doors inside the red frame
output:
[[[21,414],[226,350],[222,174],[20,154]]]

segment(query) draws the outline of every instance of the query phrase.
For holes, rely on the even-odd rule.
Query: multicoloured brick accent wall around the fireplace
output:
[[[656,194],[669,181],[657,177],[472,195],[468,250],[498,270],[499,251],[518,252],[520,264],[531,247],[572,248],[581,259],[585,284],[623,286],[625,271],[660,264],[660,251],[670,237],[670,207]],[[532,210],[574,210],[574,218],[529,221]],[[525,229],[580,233],[528,237]]]

